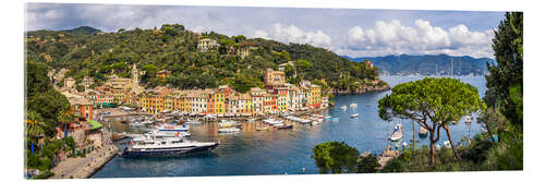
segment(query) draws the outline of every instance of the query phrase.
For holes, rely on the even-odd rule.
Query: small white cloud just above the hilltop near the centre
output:
[[[254,37],[275,39],[282,43],[310,44],[323,48],[331,46],[331,37],[320,29],[304,32],[295,25],[282,26],[279,23],[274,24],[270,32],[263,29],[255,31]]]

